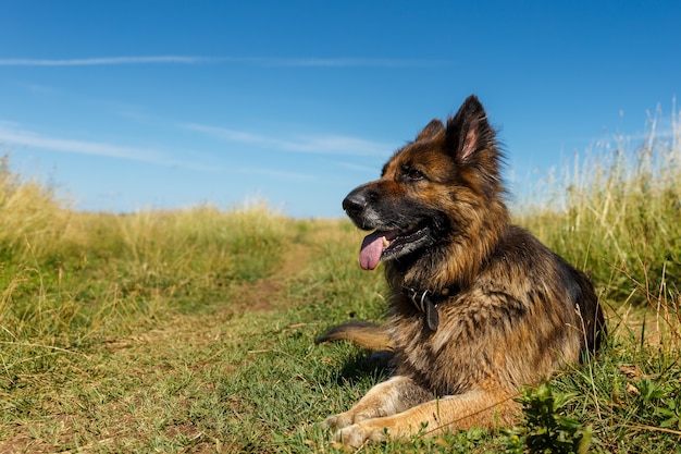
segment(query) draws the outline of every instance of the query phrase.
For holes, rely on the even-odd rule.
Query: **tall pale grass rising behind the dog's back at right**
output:
[[[681,124],[660,123],[657,112],[643,139],[615,136],[577,155],[519,221],[591,273],[614,307],[648,305],[679,321]]]

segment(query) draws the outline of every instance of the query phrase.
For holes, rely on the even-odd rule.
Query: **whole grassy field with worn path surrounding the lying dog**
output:
[[[602,355],[518,396],[517,427],[366,452],[678,450],[674,134],[582,156],[544,200],[516,204],[518,223],[593,277]],[[76,212],[8,158],[0,210],[0,453],[343,452],[319,422],[385,378],[357,347],[314,344],[384,314],[382,273],[357,266],[348,221],[259,203]]]

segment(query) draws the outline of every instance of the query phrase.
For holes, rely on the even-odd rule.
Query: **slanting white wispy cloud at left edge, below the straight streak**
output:
[[[35,147],[70,154],[128,159],[133,161],[149,162],[160,165],[177,165],[195,170],[215,170],[214,168],[208,165],[174,160],[168,155],[151,148],[129,147],[101,142],[46,136],[26,130],[21,125],[12,122],[0,121],[0,143],[20,147]]]

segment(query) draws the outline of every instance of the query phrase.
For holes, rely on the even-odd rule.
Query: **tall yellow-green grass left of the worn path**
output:
[[[290,220],[263,203],[132,214],[74,212],[0,160],[0,343],[5,371],[173,310],[226,302],[271,272]],[[173,310],[171,310],[173,309]]]

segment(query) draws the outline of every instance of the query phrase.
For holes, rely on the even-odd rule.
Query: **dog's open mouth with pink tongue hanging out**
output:
[[[373,270],[381,260],[389,260],[421,247],[429,238],[428,225],[413,225],[407,230],[376,230],[364,237],[359,250],[359,265]]]

